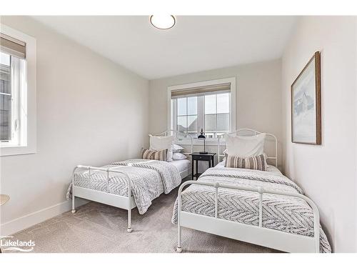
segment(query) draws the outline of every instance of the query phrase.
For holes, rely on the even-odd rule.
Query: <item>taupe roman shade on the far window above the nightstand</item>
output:
[[[231,92],[231,83],[214,84],[210,86],[197,86],[188,89],[173,90],[171,91],[171,99],[178,99],[186,96],[203,96],[229,92]]]

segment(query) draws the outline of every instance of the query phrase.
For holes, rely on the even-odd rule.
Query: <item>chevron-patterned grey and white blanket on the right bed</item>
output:
[[[215,167],[207,169],[198,180],[303,194],[298,185],[281,174],[252,169]],[[182,193],[182,210],[214,217],[215,188],[190,185]],[[258,226],[258,193],[218,188],[218,218]],[[177,223],[177,199],[172,222]],[[313,237],[313,212],[303,199],[263,194],[263,227]],[[331,252],[331,246],[321,227],[320,251]]]

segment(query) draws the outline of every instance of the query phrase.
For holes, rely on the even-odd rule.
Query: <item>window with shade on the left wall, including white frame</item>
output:
[[[36,40],[0,25],[1,156],[36,152]]]

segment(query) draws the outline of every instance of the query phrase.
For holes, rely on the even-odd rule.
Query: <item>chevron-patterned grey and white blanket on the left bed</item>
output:
[[[129,167],[128,164],[132,164],[132,166]],[[166,194],[171,192],[181,183],[178,170],[168,162],[130,159],[125,162],[112,163],[102,168],[126,172],[129,175],[131,194],[140,214],[144,214],[149,209],[152,200],[159,197],[163,192]],[[91,170],[91,180],[89,181],[88,170],[82,170],[74,174],[74,185],[124,197],[128,196],[128,181],[124,174],[120,173],[109,172],[108,183],[106,172]],[[71,189],[72,186],[70,185],[67,191],[67,199],[71,199]]]

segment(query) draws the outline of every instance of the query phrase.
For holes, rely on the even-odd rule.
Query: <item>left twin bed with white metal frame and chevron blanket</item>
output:
[[[165,131],[155,137],[175,137],[191,140],[192,137],[178,131]],[[72,181],[67,191],[71,199],[72,213],[76,212],[75,198],[81,197],[128,211],[127,231],[131,232],[131,209],[138,208],[144,214],[152,200],[160,194],[169,194],[190,174],[191,164],[187,159],[171,162],[150,159],[129,159],[114,162],[104,167],[78,165],[74,168]]]

